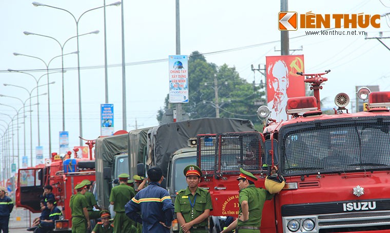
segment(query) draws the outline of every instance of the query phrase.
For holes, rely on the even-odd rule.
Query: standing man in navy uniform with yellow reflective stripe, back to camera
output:
[[[127,202],[126,216],[142,223],[143,233],[169,233],[174,208],[167,190],[160,187],[164,179],[163,171],[159,167],[153,167],[147,173],[150,183]]]

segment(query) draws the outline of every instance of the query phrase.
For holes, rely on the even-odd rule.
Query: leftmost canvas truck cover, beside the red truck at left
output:
[[[101,206],[108,207],[105,203],[110,197],[107,182],[100,183],[103,179],[103,168],[112,167],[112,160],[115,155],[127,153],[128,134],[100,137],[95,143],[95,167],[96,167],[96,185],[97,199]]]

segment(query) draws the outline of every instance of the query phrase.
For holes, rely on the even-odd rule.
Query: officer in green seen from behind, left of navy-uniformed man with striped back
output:
[[[135,196],[134,188],[127,185],[128,174],[118,176],[119,185],[111,190],[110,203],[114,206],[114,232],[130,232],[133,222],[125,214],[125,204]]]

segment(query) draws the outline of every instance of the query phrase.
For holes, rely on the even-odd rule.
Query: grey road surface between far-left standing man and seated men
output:
[[[34,218],[39,217],[41,214],[32,214],[29,210],[24,208],[13,208],[11,212],[11,217],[9,219],[9,232],[10,233],[22,233],[22,232],[31,232],[26,229],[30,227],[31,222]]]

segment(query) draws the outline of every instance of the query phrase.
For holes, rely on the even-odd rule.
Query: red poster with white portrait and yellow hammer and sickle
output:
[[[267,56],[267,105],[271,118],[287,120],[287,98],[305,96],[303,55]]]

